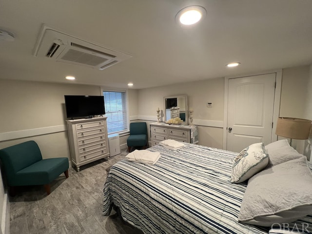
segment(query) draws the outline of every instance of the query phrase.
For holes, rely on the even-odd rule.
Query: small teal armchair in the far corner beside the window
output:
[[[127,139],[128,151],[131,147],[148,148],[148,135],[145,122],[130,123],[130,136]]]

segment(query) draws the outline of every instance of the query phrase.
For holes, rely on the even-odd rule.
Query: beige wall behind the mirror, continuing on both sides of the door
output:
[[[312,119],[312,66],[286,68],[282,73],[279,116]],[[156,120],[157,107],[164,109],[163,97],[175,95],[188,96],[189,107],[194,109],[194,123],[198,125],[199,144],[222,148],[224,78],[139,90],[138,116]],[[206,107],[208,101],[213,107]],[[293,140],[293,144],[300,153],[310,156],[310,141]]]

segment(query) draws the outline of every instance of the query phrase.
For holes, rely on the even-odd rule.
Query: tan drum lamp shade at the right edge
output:
[[[311,120],[303,118],[279,117],[277,119],[275,134],[291,139],[308,139]]]

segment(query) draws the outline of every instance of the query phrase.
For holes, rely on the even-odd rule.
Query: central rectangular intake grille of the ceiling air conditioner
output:
[[[106,62],[109,59],[98,57],[96,55],[90,55],[81,51],[69,49],[62,57],[62,60],[77,62],[81,64],[87,64],[90,66],[98,66],[99,64]]]

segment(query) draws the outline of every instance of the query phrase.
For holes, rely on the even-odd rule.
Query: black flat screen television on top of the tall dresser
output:
[[[65,95],[67,118],[93,117],[105,114],[103,96]]]

